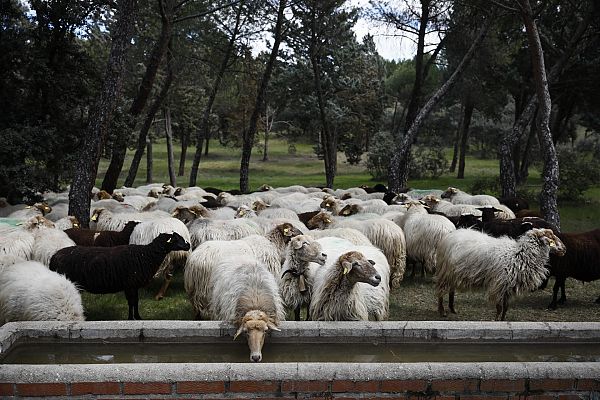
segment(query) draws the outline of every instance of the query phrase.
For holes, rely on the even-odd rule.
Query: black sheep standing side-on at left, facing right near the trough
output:
[[[142,319],[138,311],[138,289],[146,286],[171,251],[189,250],[178,233],[161,233],[147,245],[115,247],[71,246],[59,250],[50,269],[64,274],[90,293],[125,292],[129,319]]]

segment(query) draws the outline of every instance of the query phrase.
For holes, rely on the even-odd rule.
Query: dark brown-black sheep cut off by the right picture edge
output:
[[[583,233],[558,233],[556,236],[562,240],[567,252],[563,257],[550,256],[550,276],[554,276],[555,279],[552,302],[548,305],[551,310],[567,301],[565,295],[567,278],[583,282],[600,279],[600,229]],[[557,301],[559,288],[561,296]],[[600,304],[600,297],[596,299],[596,303]]]

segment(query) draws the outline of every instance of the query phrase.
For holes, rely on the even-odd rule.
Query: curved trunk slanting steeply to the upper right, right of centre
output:
[[[410,129],[408,132],[406,132],[400,143],[396,145],[396,151],[390,160],[390,166],[388,169],[388,189],[390,191],[398,192],[402,187],[406,186],[408,182],[410,150],[421,125],[433,107],[439,103],[439,101],[446,95],[446,93],[448,93],[458,78],[462,75],[464,69],[473,58],[475,50],[483,41],[483,38],[485,37],[491,24],[491,19],[492,18],[485,19],[483,26],[477,34],[477,37],[473,43],[471,43],[471,47],[469,47],[469,50],[467,50],[463,56],[462,60],[456,67],[456,70],[454,70],[448,80],[433,94],[433,96],[429,98],[421,110],[419,110],[419,113],[417,114],[413,124],[410,126]]]

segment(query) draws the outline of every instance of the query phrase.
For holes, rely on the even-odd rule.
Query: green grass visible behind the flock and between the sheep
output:
[[[250,187],[258,188],[264,183],[271,186],[324,185],[323,161],[314,155],[312,147],[307,144],[296,144],[295,154],[288,153],[288,145],[281,140],[271,140],[269,161],[263,162],[262,154],[257,149],[253,152],[250,164]],[[177,149],[178,150],[178,149]],[[192,150],[192,149],[190,149]],[[154,145],[154,177],[155,182],[168,182],[166,147],[164,143]],[[178,151],[176,151],[178,157]],[[132,152],[128,152],[123,182]],[[189,168],[193,151],[186,163],[186,176],[178,177],[180,186],[188,186]],[[213,141],[208,156],[202,158],[197,184],[223,189],[239,188],[238,149],[223,148]],[[107,167],[102,160],[100,171]],[[140,166],[138,178],[134,186],[144,184],[145,164]],[[465,179],[456,179],[453,174],[444,174],[434,180],[413,180],[409,186],[418,189],[445,189],[456,186],[468,189],[481,178],[498,175],[497,160],[480,160],[468,157],[466,160]],[[102,175],[97,185],[101,184]],[[338,173],[335,186],[344,188],[361,184],[374,185],[363,165],[349,165],[344,162],[343,155],[338,158]],[[385,182],[382,182],[385,183]],[[532,169],[528,181],[528,190],[539,191],[541,180],[539,171]],[[585,200],[573,203],[559,203],[561,225],[564,231],[585,231],[598,228],[600,225],[600,187],[594,187],[585,194]],[[567,280],[567,304],[555,311],[546,306],[552,296],[552,284],[545,290],[529,293],[523,297],[513,298],[507,313],[510,321],[600,321],[600,305],[594,300],[600,295],[600,281],[582,284],[572,279]],[[140,314],[144,319],[193,319],[193,310],[183,288],[183,277],[177,272],[167,297],[161,301],[154,300],[160,282],[152,282],[147,288],[140,290]],[[121,320],[127,318],[127,302],[123,293],[93,295],[83,293],[83,302],[88,320]],[[495,314],[495,306],[490,304],[482,293],[457,293],[456,308],[459,314],[450,315],[449,320],[491,320]],[[391,320],[438,320],[437,304],[431,277],[405,278],[401,286],[392,290],[390,295]]]

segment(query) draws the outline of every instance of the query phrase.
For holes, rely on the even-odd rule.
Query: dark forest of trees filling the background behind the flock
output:
[[[189,186],[202,184],[211,147],[239,149],[242,191],[252,152],[268,161],[270,137],[290,151],[310,144],[328,187],[338,152],[392,190],[448,170],[464,176],[476,154],[500,160],[501,192],[516,195],[537,163],[540,206],[554,222],[561,189],[576,196],[600,179],[591,0],[0,4],[0,196],[32,201],[70,185],[84,225],[98,174],[109,192],[131,185],[159,137],[170,180]],[[357,40],[359,18],[414,41],[416,53],[383,59],[372,36]],[[257,42],[267,44],[254,54]]]

